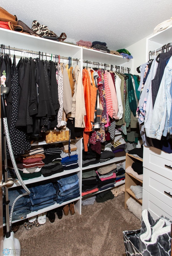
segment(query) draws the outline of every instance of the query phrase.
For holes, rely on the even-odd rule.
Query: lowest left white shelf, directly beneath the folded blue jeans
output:
[[[61,203],[61,204],[55,203],[55,204],[53,204],[53,205],[51,205],[51,206],[45,207],[45,208],[40,209],[40,210],[38,210],[38,211],[32,211],[31,213],[27,214],[26,219],[27,219],[27,218],[30,218],[30,217],[33,217],[33,216],[36,216],[36,215],[38,215],[38,214],[40,214],[40,213],[45,213],[45,212],[47,212],[47,211],[51,211],[51,210],[53,210],[53,209],[55,209],[55,208],[58,208],[58,207],[60,207],[60,206],[65,205],[65,204],[70,204],[70,203],[72,203],[72,202],[78,201],[79,199],[80,199],[80,197],[77,197],[77,198],[71,199],[71,200],[69,200],[69,201],[65,201],[65,202],[63,202],[63,203]],[[76,207],[75,207],[75,209],[76,209]],[[69,214],[70,214],[70,213],[69,213]],[[57,217],[57,216],[56,216],[56,217]],[[25,220],[26,220],[26,219],[25,219]],[[19,222],[19,221],[21,221],[21,220],[24,220],[24,219],[14,220],[14,221],[12,221],[12,223]],[[4,223],[3,226],[6,226],[6,223]]]

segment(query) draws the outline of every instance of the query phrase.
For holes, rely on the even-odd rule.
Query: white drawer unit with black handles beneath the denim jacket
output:
[[[148,209],[154,219],[164,215],[172,220],[171,154],[144,147],[143,166],[142,210]]]

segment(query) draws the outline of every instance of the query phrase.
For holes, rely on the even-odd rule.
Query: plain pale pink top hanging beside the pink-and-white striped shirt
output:
[[[107,75],[107,80],[108,80],[108,84],[109,84],[109,88],[110,88],[110,92],[111,92],[111,98],[112,98],[112,104],[113,104],[113,118],[114,119],[119,119],[119,117],[117,117],[117,114],[118,114],[118,99],[117,99],[114,83],[113,83],[113,80],[112,80],[112,76],[110,75],[109,72],[107,72],[107,70],[105,70],[105,74]]]

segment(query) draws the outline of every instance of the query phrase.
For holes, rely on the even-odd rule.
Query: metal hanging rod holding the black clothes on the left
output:
[[[65,56],[59,56],[59,55],[55,55],[55,54],[50,54],[50,53],[44,53],[44,52],[37,52],[37,51],[33,51],[33,50],[26,50],[26,49],[21,49],[21,48],[16,48],[16,47],[12,47],[12,46],[6,46],[6,45],[3,45],[3,48],[1,48],[1,50],[3,50],[3,49],[6,49],[6,50],[13,50],[14,51],[14,53],[15,53],[15,51],[17,51],[17,52],[23,52],[23,53],[31,53],[31,54],[35,54],[35,55],[40,55],[40,56],[46,56],[46,57],[52,57],[52,58],[60,58],[60,59],[66,59],[66,60],[68,60],[69,59],[69,57],[65,57]],[[72,57],[71,57],[71,59],[73,60],[73,61],[77,61],[77,62],[79,62],[80,61],[80,59],[73,59]]]

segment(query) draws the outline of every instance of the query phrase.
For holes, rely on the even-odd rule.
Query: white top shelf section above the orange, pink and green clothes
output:
[[[111,53],[100,52],[94,49],[84,48],[83,47],[83,59],[88,61],[95,61],[99,63],[106,63],[110,65],[122,65],[123,63],[129,62],[131,59],[123,58],[121,55],[115,55]],[[87,65],[87,63],[84,63]],[[88,64],[89,66],[90,64]]]

